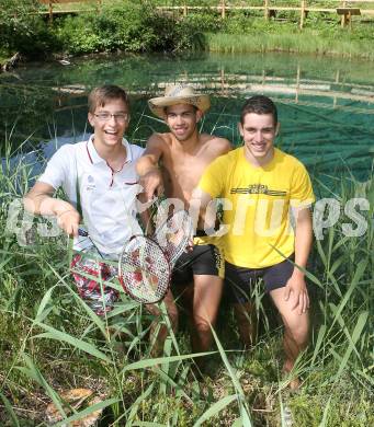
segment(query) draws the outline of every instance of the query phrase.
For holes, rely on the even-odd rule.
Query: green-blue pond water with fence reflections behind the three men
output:
[[[374,154],[374,73],[370,62],[284,54],[100,56],[27,65],[0,74],[2,148],[50,157],[61,143],[90,132],[87,94],[95,85],[125,86],[132,100],[128,139],[139,145],[154,130],[147,99],[166,84],[191,83],[212,94],[202,128],[240,143],[237,122],[252,94],[271,96],[280,111],[277,145],[297,155],[313,175],[366,180]],[[4,151],[2,157],[4,157]],[[19,158],[18,158],[19,159]],[[37,169],[35,170],[37,173]]]

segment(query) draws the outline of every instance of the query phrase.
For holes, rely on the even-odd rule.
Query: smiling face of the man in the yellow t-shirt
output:
[[[253,165],[269,163],[274,154],[274,139],[279,130],[272,114],[248,113],[239,131],[245,141],[247,160]]]

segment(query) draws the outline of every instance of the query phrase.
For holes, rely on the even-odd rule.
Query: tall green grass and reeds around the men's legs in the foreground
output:
[[[3,154],[9,159],[12,152]],[[197,381],[183,316],[180,332],[170,332],[163,357],[152,359],[151,316],[141,305],[122,295],[115,311],[102,319],[78,298],[66,238],[30,232],[22,240],[7,229],[9,206],[26,192],[29,175],[21,163],[5,164],[0,175],[1,426],[45,425],[49,402],[66,419],[79,419],[83,409],[69,412],[59,397],[78,386],[101,396],[101,426],[280,426],[287,411],[295,426],[374,424],[372,220],[362,238],[344,238],[342,223],[350,221],[342,216],[314,245],[313,333],[295,368],[304,381],[297,393],[281,376],[282,330],[261,285],[258,344],[250,351],[239,349],[233,313],[223,307],[215,353],[202,356],[209,360],[211,377]],[[373,175],[365,185],[353,178],[336,182],[331,197],[337,194],[341,203],[366,197],[371,210],[362,214],[373,218]],[[20,224],[22,212],[18,219]]]

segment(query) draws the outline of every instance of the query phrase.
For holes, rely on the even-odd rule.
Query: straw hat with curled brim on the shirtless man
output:
[[[165,95],[148,101],[150,111],[158,117],[165,118],[165,107],[177,104],[191,104],[205,113],[211,107],[208,95],[196,93],[195,89],[186,85],[168,85]]]

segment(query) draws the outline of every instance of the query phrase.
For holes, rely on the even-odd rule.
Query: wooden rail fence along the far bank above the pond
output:
[[[126,0],[123,0],[124,2]],[[165,12],[180,12],[182,15],[186,16],[190,12],[203,12],[205,10],[217,11],[222,19],[226,19],[230,12],[235,11],[263,11],[263,16],[265,20],[271,18],[276,18],[279,12],[298,12],[299,13],[299,27],[303,28],[305,20],[308,16],[309,12],[315,13],[331,13],[335,15],[341,16],[341,26],[351,25],[352,16],[354,15],[366,15],[374,16],[374,9],[369,9],[370,4],[374,7],[374,0],[298,0],[299,4],[296,5],[293,2],[292,5],[284,5],[287,1],[282,1],[282,4],[277,0],[261,0],[257,2],[258,4],[253,5],[253,0],[248,0],[242,2],[245,4],[236,5],[230,4],[227,0],[217,0],[217,5],[159,5],[158,10]],[[79,13],[83,11],[100,11],[101,7],[107,0],[39,0],[41,3],[48,5],[48,11],[41,12],[49,15],[49,20],[53,20],[54,14],[60,13]],[[88,8],[82,9],[79,7],[69,7],[71,4],[86,4]],[[203,1],[202,1],[203,3]],[[277,3],[277,4],[276,4]],[[66,4],[66,9],[57,9],[57,4]],[[328,4],[328,5],[327,5]],[[335,4],[335,8],[331,7]],[[90,5],[92,5],[90,8]],[[366,8],[369,7],[369,8]]]

